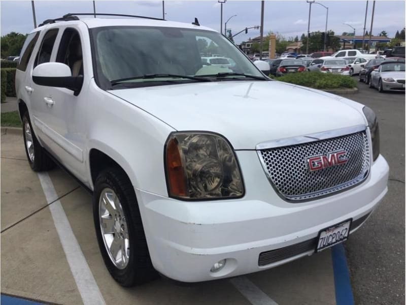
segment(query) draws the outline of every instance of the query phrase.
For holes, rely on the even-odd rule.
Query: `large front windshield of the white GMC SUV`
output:
[[[178,27],[109,26],[93,28],[91,34],[96,82],[102,88],[111,89],[112,83],[123,79],[127,87],[163,85],[193,82],[198,78],[191,76],[208,77],[219,73],[263,78],[252,62],[217,32]],[[202,55],[212,58],[207,60]],[[215,55],[221,57],[213,58]],[[163,74],[168,75],[167,79]],[[247,79],[235,75],[229,78]]]

